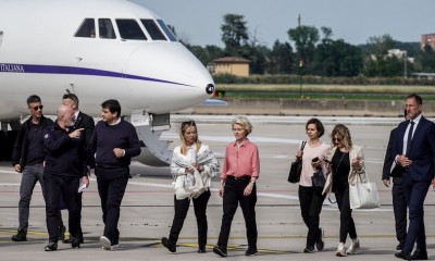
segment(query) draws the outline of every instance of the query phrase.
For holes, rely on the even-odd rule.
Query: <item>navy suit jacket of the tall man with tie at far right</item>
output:
[[[402,154],[403,136],[409,122],[401,122],[397,127],[395,142],[393,145],[393,157]],[[409,166],[409,175],[413,181],[432,181],[434,178],[435,156],[435,124],[424,116],[412,136],[412,144],[408,159],[412,160]],[[407,175],[408,175],[407,174]]]

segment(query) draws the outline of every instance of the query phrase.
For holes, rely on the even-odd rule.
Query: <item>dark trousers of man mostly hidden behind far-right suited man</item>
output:
[[[407,199],[401,183],[394,183],[393,178],[393,210],[395,215],[396,238],[405,246],[407,240]]]

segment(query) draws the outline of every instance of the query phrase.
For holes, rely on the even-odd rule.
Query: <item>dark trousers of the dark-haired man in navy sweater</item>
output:
[[[109,238],[112,246],[120,243],[121,202],[128,183],[128,169],[104,170],[96,167],[98,194],[101,200],[102,221],[104,222],[103,236]]]

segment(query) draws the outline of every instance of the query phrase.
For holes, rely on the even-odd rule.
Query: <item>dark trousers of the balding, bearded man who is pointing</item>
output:
[[[66,203],[66,209],[70,213],[70,234],[72,237],[76,237],[80,215],[76,200],[79,177],[44,174],[44,183],[47,197],[46,213],[49,241],[58,243],[59,240],[59,225],[61,222],[59,201],[61,199],[61,195],[63,196],[63,199]]]

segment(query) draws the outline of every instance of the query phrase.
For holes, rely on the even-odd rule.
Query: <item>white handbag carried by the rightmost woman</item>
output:
[[[380,208],[380,196],[377,195],[376,184],[369,182],[365,176],[363,181],[361,175],[358,174],[357,183],[349,184],[349,200],[351,209],[375,209]]]

